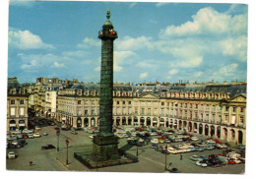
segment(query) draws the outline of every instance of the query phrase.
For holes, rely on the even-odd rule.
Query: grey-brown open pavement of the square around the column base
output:
[[[60,150],[56,149],[40,149],[44,145],[54,145],[57,147],[56,131],[53,126],[43,127],[38,132],[42,134],[47,131],[48,136],[40,138],[28,139],[28,145],[23,149],[7,149],[14,150],[18,153],[18,158],[7,159],[6,166],[8,170],[37,170],[37,171],[109,171],[109,172],[164,172],[165,168],[165,154],[160,153],[155,149],[151,149],[151,145],[140,147],[138,149],[139,162],[132,164],[116,165],[110,167],[103,167],[97,169],[89,169],[77,159],[73,157],[74,152],[83,150],[91,150],[92,139],[89,138],[90,134],[84,131],[79,131],[78,135],[73,135],[70,131],[61,131],[59,138]],[[67,149],[65,140],[68,139],[68,165],[66,165]],[[127,145],[125,139],[119,141],[119,148]],[[132,147],[127,152],[136,155],[137,148]],[[220,153],[222,149],[207,150],[203,152],[188,152],[182,154],[180,160],[179,154],[168,154],[166,157],[167,165],[171,162],[170,168],[176,167],[182,173],[230,173],[242,174],[244,173],[244,164],[226,165],[222,167],[200,167],[191,161],[189,157],[193,154]],[[30,160],[33,165],[30,166]]]

